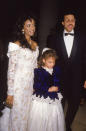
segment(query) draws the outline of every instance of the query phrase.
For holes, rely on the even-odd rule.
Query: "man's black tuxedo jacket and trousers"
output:
[[[83,66],[85,63],[84,39],[77,32],[74,32],[73,47],[68,58],[63,32],[49,36],[47,47],[56,50],[59,59],[57,64],[61,68],[61,88],[64,98],[68,100],[68,110],[66,114],[66,126],[71,125],[79,106],[80,90],[83,80]],[[70,44],[70,43],[69,43]]]

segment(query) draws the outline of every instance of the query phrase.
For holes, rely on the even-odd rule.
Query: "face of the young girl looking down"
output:
[[[47,59],[43,59],[44,67],[47,67],[49,69],[53,68],[55,65],[55,58],[49,57]]]

